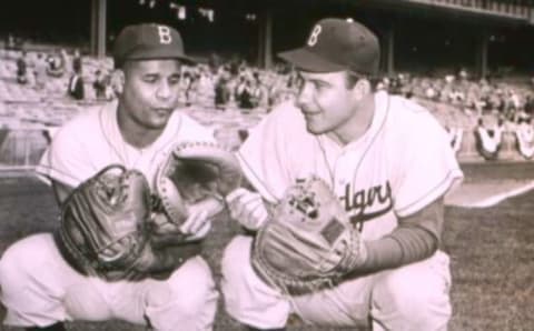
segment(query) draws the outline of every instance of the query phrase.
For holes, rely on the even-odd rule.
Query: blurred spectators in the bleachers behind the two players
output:
[[[70,103],[83,108],[83,104],[115,98],[111,71],[111,59],[81,57],[78,50],[0,50],[0,100]],[[184,106],[219,113],[230,109],[240,113],[265,113],[295,97],[298,76],[283,63],[263,70],[243,60],[221,63],[209,59],[202,64],[185,67],[180,83]],[[532,84],[475,80],[465,69],[443,77],[398,73],[379,79],[376,88],[416,98],[433,111],[446,109],[441,120],[451,131],[471,130],[488,117],[495,122],[530,123],[534,111]],[[40,112],[42,114],[38,116],[39,109],[33,109],[20,117],[43,123],[58,123],[69,118],[62,111]]]

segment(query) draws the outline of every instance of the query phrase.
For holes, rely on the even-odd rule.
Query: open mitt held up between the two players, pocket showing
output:
[[[189,210],[206,210],[208,218],[219,213],[225,195],[240,185],[241,173],[234,154],[215,143],[185,142],[168,152],[156,175],[152,211],[164,214],[151,223],[155,245],[187,241],[179,230]]]

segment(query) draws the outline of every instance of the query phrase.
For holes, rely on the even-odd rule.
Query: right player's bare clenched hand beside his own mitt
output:
[[[230,217],[248,230],[256,231],[267,221],[269,213],[261,195],[239,188],[226,197]]]

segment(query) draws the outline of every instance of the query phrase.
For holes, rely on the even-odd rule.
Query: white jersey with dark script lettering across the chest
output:
[[[298,179],[323,178],[366,240],[392,232],[463,178],[446,131],[416,103],[375,93],[375,114],[363,137],[340,146],[312,134],[293,103],[283,103],[237,153],[245,175],[269,202]],[[437,231],[436,231],[437,232]]]

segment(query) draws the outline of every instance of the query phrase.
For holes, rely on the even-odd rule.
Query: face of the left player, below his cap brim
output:
[[[178,102],[180,62],[178,60],[128,61],[120,94],[119,117],[146,130],[161,130]]]

